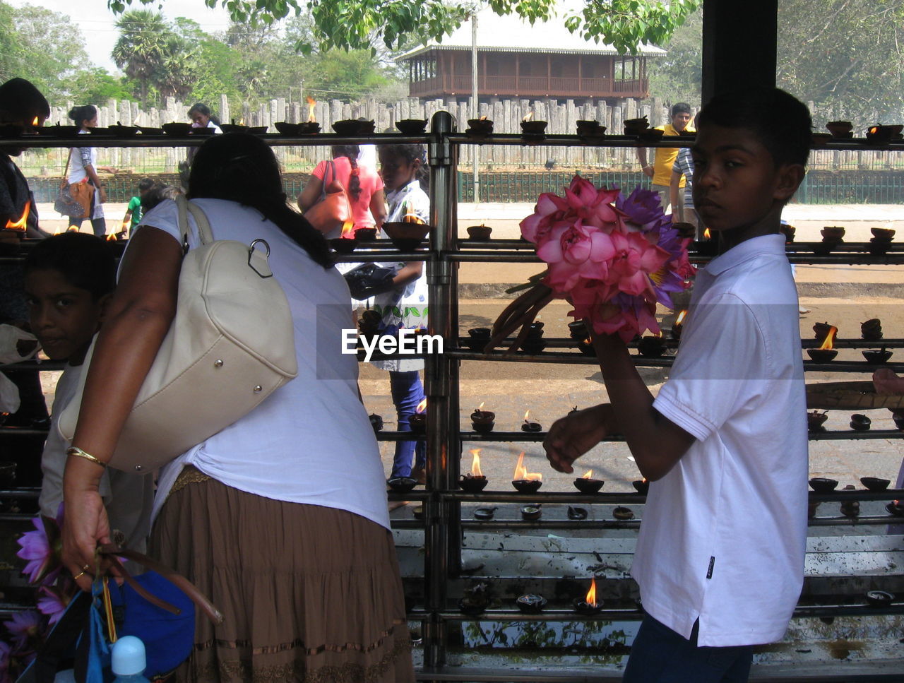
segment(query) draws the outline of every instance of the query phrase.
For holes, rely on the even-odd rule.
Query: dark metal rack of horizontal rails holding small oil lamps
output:
[[[457,133],[455,122],[445,111],[434,115],[428,133],[417,136],[377,134],[366,138],[340,137],[332,134],[287,137],[264,134],[260,136],[273,146],[326,146],[335,144],[370,143],[419,143],[428,145],[428,163],[430,169],[432,201],[430,208],[430,224],[432,231],[426,248],[412,251],[391,249],[385,241],[363,242],[359,249],[351,254],[343,255],[339,261],[425,261],[430,298],[429,328],[430,333],[444,339],[455,339],[461,346],[447,349],[442,355],[428,356],[425,371],[425,393],[430,404],[426,434],[413,436],[410,432],[379,432],[378,438],[383,441],[400,439],[423,439],[428,443],[428,488],[425,491],[411,491],[405,494],[391,493],[395,499],[418,501],[423,506],[423,518],[412,520],[395,520],[393,528],[400,533],[423,529],[423,595],[420,604],[410,608],[410,619],[421,621],[423,625],[423,666],[418,672],[419,680],[425,681],[594,681],[608,683],[620,679],[620,674],[612,670],[598,673],[588,669],[570,669],[557,667],[555,670],[539,669],[489,669],[478,667],[447,666],[448,625],[460,621],[589,621],[596,619],[631,620],[641,618],[636,603],[629,600],[619,603],[615,609],[606,609],[592,617],[582,617],[575,612],[550,609],[536,615],[527,615],[511,609],[489,610],[479,616],[467,615],[451,608],[453,588],[465,576],[461,571],[462,535],[465,531],[516,530],[516,529],[634,529],[640,525],[639,519],[617,520],[609,518],[606,513],[601,518],[591,520],[544,519],[542,521],[526,521],[519,519],[497,519],[493,521],[472,521],[463,519],[462,503],[499,502],[499,503],[574,503],[599,507],[618,504],[642,504],[645,496],[633,493],[601,493],[586,495],[579,492],[552,492],[523,494],[513,491],[485,490],[481,493],[466,493],[457,488],[459,476],[459,454],[462,445],[468,441],[542,441],[543,432],[461,432],[460,406],[458,401],[459,364],[462,360],[504,360],[515,363],[555,363],[555,364],[595,364],[595,359],[581,356],[575,351],[566,350],[574,343],[569,339],[548,339],[547,345],[553,350],[543,351],[537,355],[515,354],[482,354],[468,350],[464,339],[459,337],[457,327],[457,263],[459,262],[539,262],[532,251],[532,245],[520,240],[464,240],[457,238],[457,204],[456,204],[456,170],[458,147],[462,145],[544,145],[555,147],[598,146],[598,147],[690,147],[693,138],[681,136],[664,139],[652,139],[637,136],[597,136],[593,138],[575,135],[519,136],[489,135],[484,137],[469,136]],[[98,137],[78,140],[74,138],[57,138],[52,136],[21,136],[17,138],[0,138],[0,149],[4,147],[72,147],[76,142],[105,147],[191,147],[202,143],[202,139],[172,136],[135,136],[129,138]],[[862,139],[833,140],[819,145],[829,149],[885,149],[904,150],[904,142],[892,141],[885,145],[874,145]],[[27,245],[25,246],[27,249]],[[711,245],[695,243],[692,245],[691,258],[695,262],[705,262],[711,258]],[[829,251],[820,242],[799,242],[787,246],[789,261],[795,263],[859,263],[859,264],[900,264],[904,263],[904,245],[891,244],[887,251],[871,251],[869,245],[859,243],[840,243]],[[18,261],[17,257],[0,257],[0,265],[5,262]],[[802,348],[815,346],[810,340],[802,340]],[[871,348],[876,346],[904,347],[904,339],[885,339],[881,343],[862,342],[861,340],[837,340],[839,348]],[[639,365],[667,367],[672,364],[671,357],[645,358],[637,356]],[[26,367],[29,364],[20,364]],[[891,364],[900,368],[904,365]],[[7,366],[9,369],[14,367]],[[56,369],[52,364],[40,364],[41,369]],[[808,371],[842,371],[864,372],[872,366],[860,362],[838,362],[816,364],[805,362]],[[24,428],[0,428],[0,434],[9,436],[14,433],[40,432]],[[888,430],[870,432],[820,432],[811,434],[813,440],[833,439],[889,439],[901,438],[904,432]],[[611,437],[607,441],[618,441]],[[25,495],[25,494],[28,495]],[[0,491],[0,498],[15,492]],[[27,498],[33,492],[24,492]],[[866,490],[836,491],[828,494],[810,494],[811,502],[845,502],[845,501],[882,501],[904,496],[904,492],[887,490],[871,492]],[[596,509],[596,508],[595,508]],[[881,515],[864,515],[851,519],[847,517],[815,517],[810,520],[811,526],[882,525],[894,521],[894,517]],[[602,579],[605,581],[606,579]],[[796,609],[796,616],[833,617],[857,616],[864,614],[904,613],[904,602],[897,601],[890,605],[876,608],[860,602],[837,602],[824,600],[820,604],[801,603]],[[806,669],[771,671],[765,674],[754,673],[755,680],[779,681],[812,680],[807,678]],[[815,670],[815,669],[814,669]],[[833,675],[821,671],[821,680],[898,680],[899,670],[881,669],[848,669],[843,675]]]

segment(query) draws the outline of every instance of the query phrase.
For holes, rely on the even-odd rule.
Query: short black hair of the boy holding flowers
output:
[[[697,123],[746,128],[767,148],[776,166],[806,166],[810,157],[810,110],[785,90],[747,88],[716,95],[701,109]]]

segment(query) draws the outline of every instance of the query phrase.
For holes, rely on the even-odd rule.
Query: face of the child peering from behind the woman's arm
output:
[[[25,299],[32,332],[52,360],[80,365],[98,331],[108,297],[95,301],[88,289],[59,270],[32,270],[25,276]]]

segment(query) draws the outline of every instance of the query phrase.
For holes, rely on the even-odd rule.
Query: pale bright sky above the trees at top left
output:
[[[45,9],[70,16],[79,24],[81,34],[88,47],[88,55],[94,64],[105,68],[110,73],[119,73],[116,64],[110,59],[110,52],[116,43],[118,31],[117,17],[109,11],[107,0],[6,0],[8,5],[40,5]],[[221,7],[211,9],[203,0],[157,0],[150,5],[142,5],[134,0],[133,8],[149,9],[162,12],[167,19],[184,16],[193,19],[206,33],[225,31],[229,26],[229,14]]]

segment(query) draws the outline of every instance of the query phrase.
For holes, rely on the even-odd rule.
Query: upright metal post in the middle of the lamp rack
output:
[[[457,239],[457,148],[448,141],[454,126],[455,121],[447,111],[434,114],[428,150],[430,224],[433,226],[431,258],[427,261],[428,327],[430,334],[440,335],[446,343],[451,343],[457,332],[456,266],[444,259],[444,254],[455,247]],[[445,624],[436,613],[446,607],[447,549],[452,538],[457,540],[458,515],[453,516],[453,511],[447,509],[439,492],[453,489],[457,476],[458,408],[457,399],[451,398],[452,394],[457,394],[457,361],[444,355],[428,356],[425,390],[430,495],[424,503],[424,583],[426,607],[431,614],[424,629],[424,665],[429,668],[442,666],[446,661]]]

